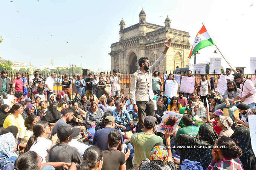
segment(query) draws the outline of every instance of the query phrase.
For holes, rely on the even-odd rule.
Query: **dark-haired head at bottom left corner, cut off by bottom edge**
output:
[[[39,156],[34,151],[21,154],[14,163],[16,170],[37,170]]]

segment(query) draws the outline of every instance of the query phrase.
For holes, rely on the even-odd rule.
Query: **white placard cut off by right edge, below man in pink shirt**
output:
[[[251,136],[251,147],[253,148],[254,155],[256,153],[256,115],[248,115],[248,122]]]

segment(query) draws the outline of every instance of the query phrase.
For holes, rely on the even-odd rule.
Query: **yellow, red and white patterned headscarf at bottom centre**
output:
[[[151,153],[150,153],[150,157],[149,160],[153,161],[153,160],[160,160],[165,162],[166,164],[168,163],[168,152],[165,149],[164,146],[158,145],[153,147]]]

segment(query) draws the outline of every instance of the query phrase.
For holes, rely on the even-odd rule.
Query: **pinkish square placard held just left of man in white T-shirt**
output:
[[[194,77],[185,77],[182,76],[180,83],[180,92],[184,93],[193,93],[195,87],[195,78]]]

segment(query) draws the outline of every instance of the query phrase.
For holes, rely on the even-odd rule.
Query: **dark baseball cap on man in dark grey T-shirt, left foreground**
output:
[[[73,128],[71,125],[62,125],[58,128],[57,135],[60,141],[66,140],[67,137],[76,137],[79,135],[80,129]]]

